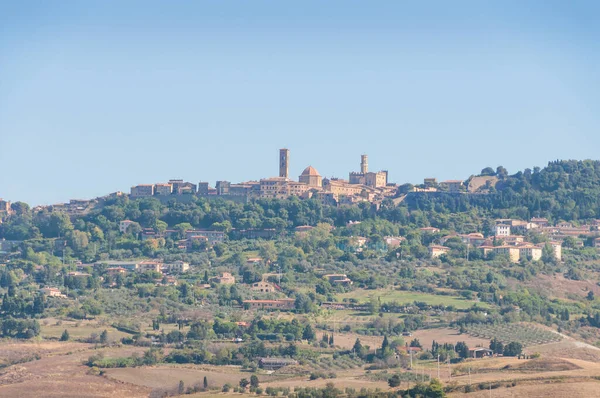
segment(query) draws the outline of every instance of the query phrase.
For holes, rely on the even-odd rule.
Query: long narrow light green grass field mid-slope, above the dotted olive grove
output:
[[[488,307],[486,303],[479,303],[472,300],[466,300],[462,297],[456,296],[441,296],[436,294],[418,293],[418,292],[407,292],[402,290],[364,290],[357,289],[348,293],[342,293],[337,295],[338,300],[343,299],[355,299],[359,302],[367,302],[371,299],[381,300],[382,303],[389,301],[397,301],[399,303],[413,303],[414,301],[421,301],[429,305],[453,305],[457,309],[467,309],[477,304],[481,307]]]

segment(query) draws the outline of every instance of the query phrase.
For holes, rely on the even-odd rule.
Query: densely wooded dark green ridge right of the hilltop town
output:
[[[500,174],[487,195],[420,193],[404,203],[412,209],[464,212],[481,209],[496,217],[551,221],[600,218],[600,161],[560,160],[547,167],[525,169],[513,175]],[[479,188],[489,177],[474,177]],[[474,185],[475,186],[475,185]],[[477,188],[478,189],[478,188]],[[471,188],[469,192],[476,192]]]

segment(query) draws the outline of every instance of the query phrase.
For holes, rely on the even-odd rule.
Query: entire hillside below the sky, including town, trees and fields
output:
[[[412,186],[367,161],[293,181],[284,149],[258,182],[0,202],[0,393],[593,389],[600,162]]]

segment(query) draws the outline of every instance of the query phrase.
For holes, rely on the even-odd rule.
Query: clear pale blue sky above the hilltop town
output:
[[[0,197],[598,159],[598,1],[2,1]]]

